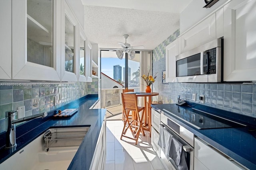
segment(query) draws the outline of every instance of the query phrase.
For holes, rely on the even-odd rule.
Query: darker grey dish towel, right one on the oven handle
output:
[[[190,162],[186,162],[186,153],[182,147],[182,143],[173,137],[168,155],[174,160],[179,170],[188,170],[188,163]]]

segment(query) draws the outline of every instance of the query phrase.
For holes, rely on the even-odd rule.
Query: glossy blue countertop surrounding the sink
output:
[[[62,106],[54,111],[50,111],[44,119],[34,119],[16,127],[16,143],[14,149],[4,149],[5,132],[0,134],[0,163],[10,158],[14,153],[28,145],[31,141],[42,135],[47,129],[52,127],[75,127],[90,126],[86,137],[82,141],[76,152],[69,170],[88,170],[92,162],[96,143],[100,134],[100,129],[106,114],[106,109],[89,109],[98,100],[98,95],[87,95],[70,104]],[[71,117],[53,118],[57,110],[67,108],[78,108],[78,112]]]

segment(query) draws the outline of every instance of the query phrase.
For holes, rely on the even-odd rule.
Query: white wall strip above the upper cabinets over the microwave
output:
[[[228,1],[230,0],[219,0],[212,7],[203,8],[206,5],[204,0],[193,0],[180,13],[180,34]]]

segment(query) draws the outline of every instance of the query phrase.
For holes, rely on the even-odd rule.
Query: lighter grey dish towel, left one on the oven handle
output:
[[[158,140],[158,145],[164,152],[164,155],[167,158],[167,160],[170,159],[168,154],[169,154],[171,141],[172,141],[172,135],[166,129],[164,129],[162,125],[160,125],[160,136]]]

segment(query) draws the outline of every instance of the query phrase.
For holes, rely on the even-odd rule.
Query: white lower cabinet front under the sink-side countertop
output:
[[[90,170],[104,170],[106,162],[106,115],[95,147]]]

